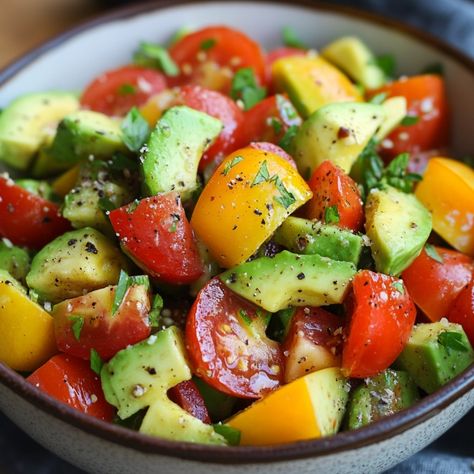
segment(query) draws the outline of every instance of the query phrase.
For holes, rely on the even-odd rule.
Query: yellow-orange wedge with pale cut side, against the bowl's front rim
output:
[[[237,413],[226,423],[242,445],[291,443],[337,433],[348,400],[338,368],[305,375]]]

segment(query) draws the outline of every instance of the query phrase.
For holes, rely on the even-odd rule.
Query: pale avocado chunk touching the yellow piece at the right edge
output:
[[[413,194],[372,189],[365,229],[378,272],[399,275],[420,254],[431,233],[431,214]]]

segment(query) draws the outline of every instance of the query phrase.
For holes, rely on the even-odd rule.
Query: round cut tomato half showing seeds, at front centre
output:
[[[241,311],[251,325],[242,320]],[[266,337],[260,311],[218,278],[210,280],[186,322],[186,346],[196,375],[240,398],[260,398],[278,388],[283,354],[279,344]]]

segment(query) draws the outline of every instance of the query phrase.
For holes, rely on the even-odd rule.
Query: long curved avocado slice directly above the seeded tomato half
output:
[[[341,303],[355,273],[349,262],[284,250],[237,265],[219,278],[238,295],[274,313],[289,306]]]

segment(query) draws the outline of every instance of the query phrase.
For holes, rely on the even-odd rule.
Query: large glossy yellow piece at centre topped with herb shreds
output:
[[[224,268],[245,262],[312,193],[273,153],[243,148],[229,155],[205,186],[191,226]]]

